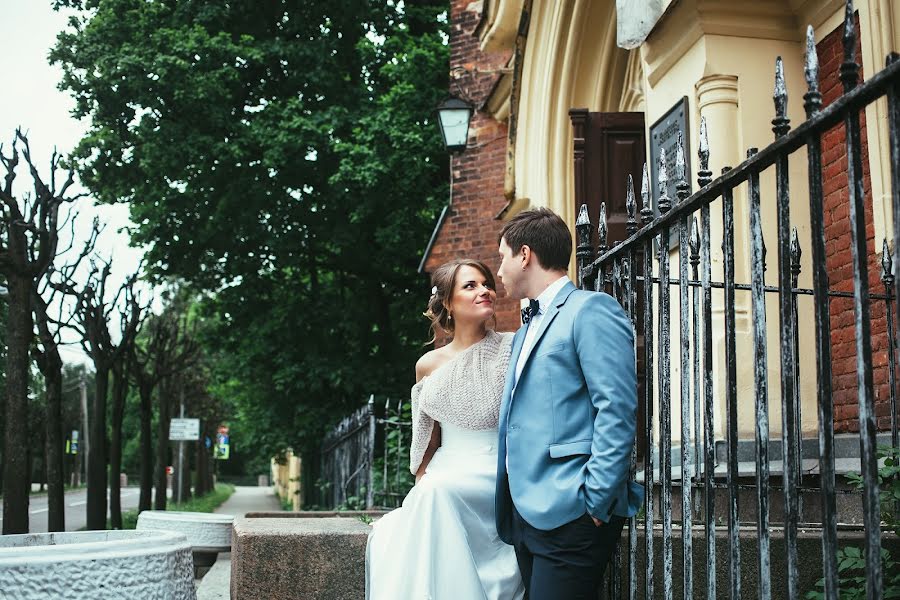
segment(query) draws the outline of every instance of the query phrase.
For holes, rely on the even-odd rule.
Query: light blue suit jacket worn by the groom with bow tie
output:
[[[501,539],[512,542],[513,504],[542,530],[585,512],[604,522],[634,516],[644,494],[629,480],[637,420],[631,320],[608,294],[568,282],[545,309],[516,381],[526,331],[513,338],[500,406]]]

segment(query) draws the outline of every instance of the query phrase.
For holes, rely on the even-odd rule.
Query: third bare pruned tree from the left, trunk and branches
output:
[[[126,304],[134,293],[136,275],[129,277],[116,291],[111,300],[107,300],[107,283],[112,266],[111,261],[103,262],[102,269],[95,261],[91,261],[91,273],[87,283],[78,295],[75,306],[77,325],[81,336],[81,344],[96,372],[96,393],[91,411],[90,448],[87,466],[87,528],[106,528],[106,408],[109,392],[109,374],[119,356],[126,350],[116,344],[110,335],[109,322],[113,311],[124,295]],[[130,322],[130,327],[137,328],[137,320]]]

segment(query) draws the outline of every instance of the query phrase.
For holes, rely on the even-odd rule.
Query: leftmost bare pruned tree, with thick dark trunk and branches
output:
[[[31,191],[17,196],[14,189],[21,157],[31,174]],[[28,371],[33,339],[35,281],[43,277],[57,253],[59,209],[84,194],[71,194],[75,183],[69,170],[60,184],[57,172],[63,157],[53,152],[50,180],[45,182],[31,155],[27,136],[17,129],[9,154],[0,145],[5,170],[0,182],[0,275],[6,279],[6,407],[3,449],[3,533],[28,532]]]

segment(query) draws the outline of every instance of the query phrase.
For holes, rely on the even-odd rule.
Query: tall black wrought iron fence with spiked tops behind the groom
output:
[[[658,167],[653,167],[659,169],[660,189],[655,191],[658,216],[654,216],[651,205],[645,165],[640,217],[629,176],[626,239],[614,243],[611,248],[607,246],[605,207],[601,208],[599,248],[595,258],[591,244],[592,225],[585,206],[582,206],[578,217],[579,283],[585,289],[605,290],[613,294],[631,316],[638,334],[636,338],[641,340],[643,347],[638,362],[643,376],[644,422],[641,426],[644,435],[639,436],[641,447],[636,445],[632,465],[633,472],[639,480],[643,479],[646,489],[641,517],[643,543],[639,544],[638,519],[632,519],[627,552],[620,552],[616,557],[619,568],[613,570],[614,576],[610,581],[609,591],[615,598],[623,597],[621,594],[626,590],[628,597],[636,598],[640,588],[643,588],[646,598],[670,599],[675,592],[674,582],[678,579],[683,597],[693,598],[694,579],[698,573],[704,579],[698,584],[698,588],[703,588],[703,592],[698,591],[698,596],[715,598],[717,590],[724,589],[731,598],[741,598],[742,561],[755,563],[755,569],[750,570],[755,570],[754,584],[759,598],[799,598],[807,591],[800,589],[798,531],[801,519],[804,526],[814,522],[820,528],[822,538],[821,571],[818,571],[818,565],[813,568],[808,561],[804,563],[804,571],[824,574],[825,597],[838,598],[836,499],[846,490],[838,489],[842,486],[836,484],[835,466],[833,315],[830,308],[832,300],[837,298],[852,299],[853,304],[853,347],[856,357],[853,378],[859,421],[859,460],[856,465],[864,482],[858,498],[864,524],[866,597],[882,597],[884,573],[880,559],[882,533],[872,323],[874,309],[878,314],[883,314],[887,321],[890,443],[897,448],[894,354],[897,338],[893,311],[898,309],[895,299],[900,294],[900,279],[893,275],[893,264],[900,260],[897,255],[900,251],[900,56],[891,54],[882,71],[864,83],[859,82],[859,65],[855,56],[857,33],[852,2],[848,2],[844,63],[840,72],[844,93],[823,109],[811,27],[807,34],[805,122],[791,131],[787,118],[787,91],[779,57],[774,78],[775,118],[772,129],[775,139],[771,145],[759,151],[750,149],[743,163],[723,169],[714,180],[709,170],[711,149],[707,141],[706,123],[701,120],[699,189],[696,192],[691,194],[690,184],[684,177],[685,156],[679,140],[674,173],[677,198],[669,198],[666,193],[670,174],[666,171],[664,152]],[[868,104],[885,96],[889,105],[889,200],[892,203],[894,234],[893,248],[887,239],[883,240],[881,283],[872,289],[874,278],[870,278],[869,259],[874,251],[870,252],[867,248],[859,114]],[[829,282],[823,221],[822,138],[828,130],[840,125],[846,131],[852,291],[834,289]],[[799,287],[803,267],[797,227],[800,225],[798,214],[803,211],[795,209],[792,217],[789,192],[788,161],[801,149],[806,150],[808,163],[809,222],[808,228],[804,225],[803,230],[809,232],[812,288]],[[771,201],[771,198],[763,197],[760,176],[773,166],[775,191],[774,201]],[[749,219],[746,228],[741,230],[736,228],[735,223],[735,199],[736,194],[744,192]],[[713,279],[711,221],[714,207],[717,212],[721,210],[721,230],[715,240],[716,243],[721,241],[721,277],[718,280]],[[775,285],[767,282],[766,265],[771,258],[767,259],[763,236],[763,216],[765,210],[770,208],[774,209],[777,222],[777,277],[769,278],[777,279]],[[743,218],[745,214],[739,216]],[[675,238],[677,249],[670,247],[670,232],[678,234]],[[736,241],[749,247],[749,281],[739,281],[736,276]],[[674,269],[673,254],[677,256],[677,267]],[[677,290],[674,293],[673,288]],[[714,294],[724,313],[721,317],[724,343],[715,348]],[[750,327],[747,333],[737,331],[738,294],[749,296]],[[807,297],[811,298],[811,303],[801,309],[798,301]],[[773,329],[773,332],[777,331],[773,337],[777,335],[778,344],[774,348],[770,347],[768,340],[770,328],[767,320],[770,317],[766,311],[767,303],[771,302],[777,303],[778,308],[777,329]],[[814,367],[812,360],[803,360],[800,351],[800,329],[807,318],[814,323],[815,356],[810,357],[815,360]],[[740,335],[744,335],[749,342],[748,350],[743,353],[738,352]],[[777,373],[770,373],[770,353],[775,353],[779,359]],[[747,386],[752,390],[752,398],[739,394],[739,361],[751,361],[753,364],[752,384]],[[676,365],[674,371],[673,364]],[[724,373],[720,375],[720,371],[714,371],[714,364]],[[724,385],[716,387],[714,378],[720,376]],[[773,382],[777,380],[777,387],[770,388],[770,376]],[[815,378],[818,434],[817,439],[804,440],[800,411],[801,379],[811,377]],[[677,388],[677,396],[673,394],[673,387]],[[721,393],[716,390],[721,390]],[[772,398],[776,393],[779,400]],[[772,434],[770,432],[778,427],[771,427],[770,410],[779,401],[780,432]],[[749,452],[739,444],[738,413],[743,402],[753,404],[753,443]],[[677,415],[673,414],[673,405],[678,409]],[[718,410],[720,405],[724,405],[723,411]],[[672,424],[676,417],[680,420],[680,431],[674,433],[680,443],[680,452],[673,453]],[[770,439],[772,435],[781,438],[780,445],[777,438]],[[886,436],[886,432],[883,435]],[[748,458],[752,460],[750,471]],[[679,468],[673,469],[673,459],[680,463]],[[673,491],[680,494],[680,510],[678,506],[673,506]],[[695,506],[695,499],[700,500],[699,506]],[[723,501],[724,511],[721,510]],[[748,501],[750,511],[740,505]],[[771,506],[773,501],[778,504],[775,515]],[[659,506],[655,506],[656,502]],[[717,513],[717,503],[720,513]],[[724,512],[724,526],[716,518],[721,512]],[[750,520],[748,515],[755,524],[751,547],[755,548],[756,556],[752,558],[742,556],[742,549],[746,553],[748,545],[745,543],[742,546],[741,521],[742,517],[745,523]],[[657,554],[654,552],[653,532],[660,524],[661,560],[655,560]],[[673,530],[673,524],[680,525],[680,532]],[[783,529],[783,559],[773,559],[774,525],[779,528],[779,536]],[[702,530],[702,537],[693,535],[694,527]],[[723,528],[725,536],[717,537],[717,529]],[[681,538],[682,562],[679,566],[675,565],[673,557],[676,533],[680,533]],[[702,547],[698,549],[698,556],[705,555],[706,564],[694,565],[693,544],[700,539]],[[717,581],[717,552],[725,554],[727,581]],[[777,554],[781,556],[781,549]],[[627,564],[622,565],[623,560]],[[783,561],[778,568],[786,574],[784,588],[772,589],[773,560]],[[654,570],[660,563],[661,576],[655,576]],[[643,566],[640,577],[639,564]],[[662,589],[659,590],[658,586]]]

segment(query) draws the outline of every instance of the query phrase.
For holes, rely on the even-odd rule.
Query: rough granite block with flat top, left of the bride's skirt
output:
[[[346,517],[237,518],[231,597],[362,600],[370,530]]]

